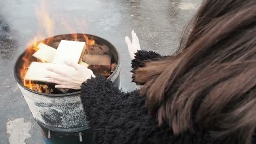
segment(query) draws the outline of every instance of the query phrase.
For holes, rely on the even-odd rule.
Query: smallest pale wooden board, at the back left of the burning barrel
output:
[[[56,53],[55,48],[45,45],[44,43],[37,45],[37,48],[39,48],[39,50],[32,56],[43,62],[51,62],[53,60]]]

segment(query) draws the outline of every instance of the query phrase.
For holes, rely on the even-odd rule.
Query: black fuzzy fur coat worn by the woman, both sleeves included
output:
[[[160,58],[155,52],[139,51],[132,68]],[[148,115],[139,90],[124,93],[105,77],[97,76],[83,83],[81,91],[96,144],[213,144],[206,141],[208,135],[204,131],[173,135],[168,125],[159,126],[156,116]]]

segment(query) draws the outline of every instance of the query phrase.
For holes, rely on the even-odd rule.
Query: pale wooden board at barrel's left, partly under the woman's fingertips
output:
[[[53,72],[46,70],[48,67],[57,67],[58,69],[69,69],[75,70],[73,67],[69,67],[64,64],[53,64],[53,63],[42,63],[42,62],[32,62],[29,66],[29,69],[24,77],[24,80],[32,80],[39,82],[46,82],[48,78],[45,78],[48,74],[56,75]]]

